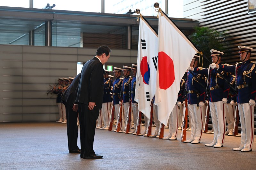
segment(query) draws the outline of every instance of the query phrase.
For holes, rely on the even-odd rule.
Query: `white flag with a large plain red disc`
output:
[[[158,17],[155,104],[158,120],[167,125],[172,109],[177,103],[180,80],[197,50],[168,17],[160,11]]]

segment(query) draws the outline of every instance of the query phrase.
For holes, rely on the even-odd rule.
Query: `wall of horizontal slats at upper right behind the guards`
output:
[[[200,26],[214,28],[218,31],[228,30],[233,37],[230,56],[225,63],[239,61],[239,45],[254,48],[252,60],[256,60],[256,13],[248,14],[247,0],[184,0],[184,18],[199,21]],[[217,49],[218,50],[218,49]]]

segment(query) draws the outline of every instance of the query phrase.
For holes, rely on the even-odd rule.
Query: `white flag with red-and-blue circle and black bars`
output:
[[[151,100],[156,92],[157,55],[158,35],[145,19],[140,18],[135,101],[149,119]]]

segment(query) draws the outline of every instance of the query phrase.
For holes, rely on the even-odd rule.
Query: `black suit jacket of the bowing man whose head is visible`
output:
[[[95,102],[96,107],[101,109],[104,88],[102,67],[97,57],[84,64],[77,87],[76,102],[86,105],[89,105],[89,102]]]

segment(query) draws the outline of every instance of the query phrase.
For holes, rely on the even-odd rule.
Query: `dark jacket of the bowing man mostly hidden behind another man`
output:
[[[79,83],[81,73],[79,73],[74,80],[72,81],[71,85],[68,86],[68,89],[63,94],[61,100],[65,101],[68,105],[73,105],[74,101],[76,100],[76,88]]]

